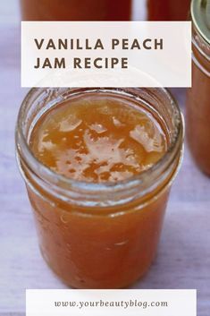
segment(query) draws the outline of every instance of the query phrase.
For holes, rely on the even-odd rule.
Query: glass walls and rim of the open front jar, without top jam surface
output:
[[[83,183],[55,174],[29,149],[40,115],[62,100],[104,93],[149,108],[164,124],[169,148],[155,165],[117,183]],[[164,89],[32,89],[16,129],[17,159],[29,193],[41,252],[69,286],[121,288],[155,257],[172,181],[181,164],[183,124]]]

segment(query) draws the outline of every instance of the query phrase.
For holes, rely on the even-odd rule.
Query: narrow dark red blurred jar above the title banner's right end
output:
[[[190,0],[147,0],[149,21],[186,21]]]

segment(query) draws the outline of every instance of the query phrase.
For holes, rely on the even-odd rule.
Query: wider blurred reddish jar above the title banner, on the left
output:
[[[24,21],[129,21],[132,0],[21,0]]]

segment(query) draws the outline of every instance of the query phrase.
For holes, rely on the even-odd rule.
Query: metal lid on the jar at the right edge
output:
[[[202,38],[210,45],[210,0],[192,0],[191,17]]]

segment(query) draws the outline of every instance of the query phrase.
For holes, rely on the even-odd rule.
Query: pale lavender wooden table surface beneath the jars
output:
[[[9,5],[10,4],[10,5]],[[0,314],[24,312],[26,288],[65,288],[42,260],[29,201],[14,158],[21,99],[17,0],[0,2]],[[185,91],[174,90],[184,104]],[[197,288],[197,315],[210,315],[210,179],[186,146],[167,208],[157,258],[133,288]],[[184,316],[184,315],[178,315]]]

